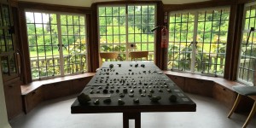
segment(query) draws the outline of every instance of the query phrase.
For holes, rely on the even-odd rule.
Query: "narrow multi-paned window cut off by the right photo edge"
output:
[[[256,3],[248,3],[245,5],[243,28],[241,34],[241,50],[240,63],[238,66],[238,80],[253,85],[255,79],[256,66],[256,35],[250,33],[251,27],[255,26]]]

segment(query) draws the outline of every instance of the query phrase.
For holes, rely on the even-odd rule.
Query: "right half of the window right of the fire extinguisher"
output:
[[[198,24],[196,72],[214,75],[224,74],[224,56],[229,26],[229,9],[201,11]],[[222,52],[222,55],[218,55]]]

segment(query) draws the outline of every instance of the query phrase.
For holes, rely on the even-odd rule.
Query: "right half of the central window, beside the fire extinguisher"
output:
[[[128,6],[128,42],[136,43],[139,51],[152,51],[148,61],[154,60],[154,32],[150,31],[154,28],[154,11],[152,5]]]

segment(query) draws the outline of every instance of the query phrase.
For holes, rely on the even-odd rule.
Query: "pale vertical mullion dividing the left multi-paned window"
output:
[[[59,53],[60,53],[60,70],[61,70],[61,76],[64,76],[64,57],[63,57],[62,39],[61,39],[61,15],[57,14],[56,17],[57,17]]]

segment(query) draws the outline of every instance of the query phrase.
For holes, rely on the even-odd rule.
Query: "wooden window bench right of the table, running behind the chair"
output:
[[[235,85],[243,85],[236,81],[227,79],[202,76],[200,74],[178,73],[164,71],[183,91],[209,96],[221,102],[227,108],[232,108],[236,101],[237,93],[232,89]],[[238,105],[235,112],[249,112],[253,106],[253,100],[247,96],[242,97],[242,102]]]

